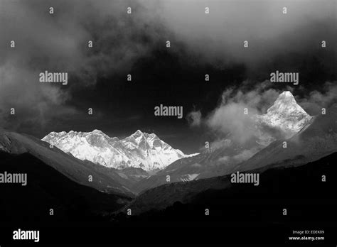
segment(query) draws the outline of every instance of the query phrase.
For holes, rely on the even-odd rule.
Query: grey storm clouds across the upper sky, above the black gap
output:
[[[126,14],[128,6],[132,15]],[[99,77],[114,84],[115,74],[125,75],[141,57],[164,48],[165,40],[171,40],[177,59],[191,55],[193,62],[215,68],[242,62],[254,71],[277,55],[304,56],[319,49],[321,40],[334,54],[333,11],[333,1],[1,0],[0,124],[12,123],[11,107],[24,126],[79,114],[68,104],[77,88],[95,85]],[[9,48],[10,40],[16,48]],[[93,41],[91,50],[87,40]],[[243,40],[249,41],[248,50]],[[186,66],[191,62],[182,60]],[[39,83],[38,73],[44,70],[69,72],[69,84]],[[191,116],[198,124],[200,114]]]

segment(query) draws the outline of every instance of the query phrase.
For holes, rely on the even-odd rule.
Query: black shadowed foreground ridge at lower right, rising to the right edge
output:
[[[139,221],[183,218],[195,223],[211,221],[212,226],[219,221],[232,227],[257,226],[262,221],[279,224],[289,218],[307,221],[310,216],[310,221],[332,221],[336,226],[336,158],[337,147],[334,153],[301,166],[290,167],[286,160],[277,167],[247,170],[260,174],[259,186],[233,184],[230,175],[168,183],[139,194],[125,208],[139,214]],[[326,182],[322,182],[322,175],[329,177]],[[289,209],[289,218],[280,213],[284,207]],[[203,215],[205,208],[210,209],[210,219]]]

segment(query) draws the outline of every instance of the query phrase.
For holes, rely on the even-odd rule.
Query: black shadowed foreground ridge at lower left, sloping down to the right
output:
[[[0,164],[0,173],[27,174],[26,186],[0,185],[1,221],[97,220],[131,200],[80,185],[30,153],[0,151]]]

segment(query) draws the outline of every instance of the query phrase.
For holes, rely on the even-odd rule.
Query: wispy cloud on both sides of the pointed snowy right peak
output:
[[[308,92],[304,87],[287,89],[294,92],[297,104],[311,115],[319,114],[322,107],[337,102],[336,82],[326,82],[321,87],[321,92],[317,90]],[[223,141],[227,138],[240,144],[250,143],[252,140],[268,143],[270,137],[287,138],[287,133],[278,128],[257,124],[255,116],[265,114],[280,93],[282,91],[275,89],[269,81],[253,86],[249,81],[245,81],[240,87],[226,89],[221,96],[220,104],[205,118],[201,118],[201,114],[196,114],[196,111],[192,111],[188,116],[194,116],[191,119],[198,119],[198,126],[205,125],[210,131],[217,133],[218,138],[213,141],[213,148],[225,146]],[[248,114],[245,114],[245,111]],[[196,126],[195,122],[189,123]]]

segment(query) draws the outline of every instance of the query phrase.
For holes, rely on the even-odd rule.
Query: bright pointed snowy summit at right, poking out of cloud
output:
[[[269,107],[266,114],[257,116],[260,123],[267,124],[267,126],[280,128],[286,133],[287,138],[294,136],[301,128],[308,125],[312,120],[312,116],[306,113],[296,103],[291,92],[286,91],[279,94],[279,97],[274,104]]]

